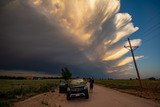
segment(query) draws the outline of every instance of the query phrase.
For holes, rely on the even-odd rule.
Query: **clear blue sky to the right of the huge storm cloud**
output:
[[[135,54],[144,58],[138,60],[140,73],[143,77],[160,77],[160,1],[159,0],[121,0],[121,12],[132,15],[132,22],[139,27],[130,38],[142,39],[142,45]]]

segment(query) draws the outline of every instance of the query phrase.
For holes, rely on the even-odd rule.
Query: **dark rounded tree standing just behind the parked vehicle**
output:
[[[65,80],[68,80],[72,77],[72,74],[67,67],[65,67],[61,70],[61,75]]]

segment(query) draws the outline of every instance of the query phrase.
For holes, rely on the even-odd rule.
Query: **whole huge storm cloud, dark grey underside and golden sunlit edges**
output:
[[[73,74],[101,77],[111,70],[124,71],[132,62],[125,57],[129,51],[122,40],[138,27],[128,13],[119,13],[119,0],[11,0],[1,4],[1,69],[51,71],[69,66]],[[141,40],[131,43],[139,46]]]

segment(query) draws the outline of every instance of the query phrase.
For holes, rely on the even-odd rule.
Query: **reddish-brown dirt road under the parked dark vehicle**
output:
[[[147,99],[95,85],[88,100],[76,98],[67,101],[65,94],[59,94],[56,91],[15,103],[14,107],[160,107],[160,105]]]

